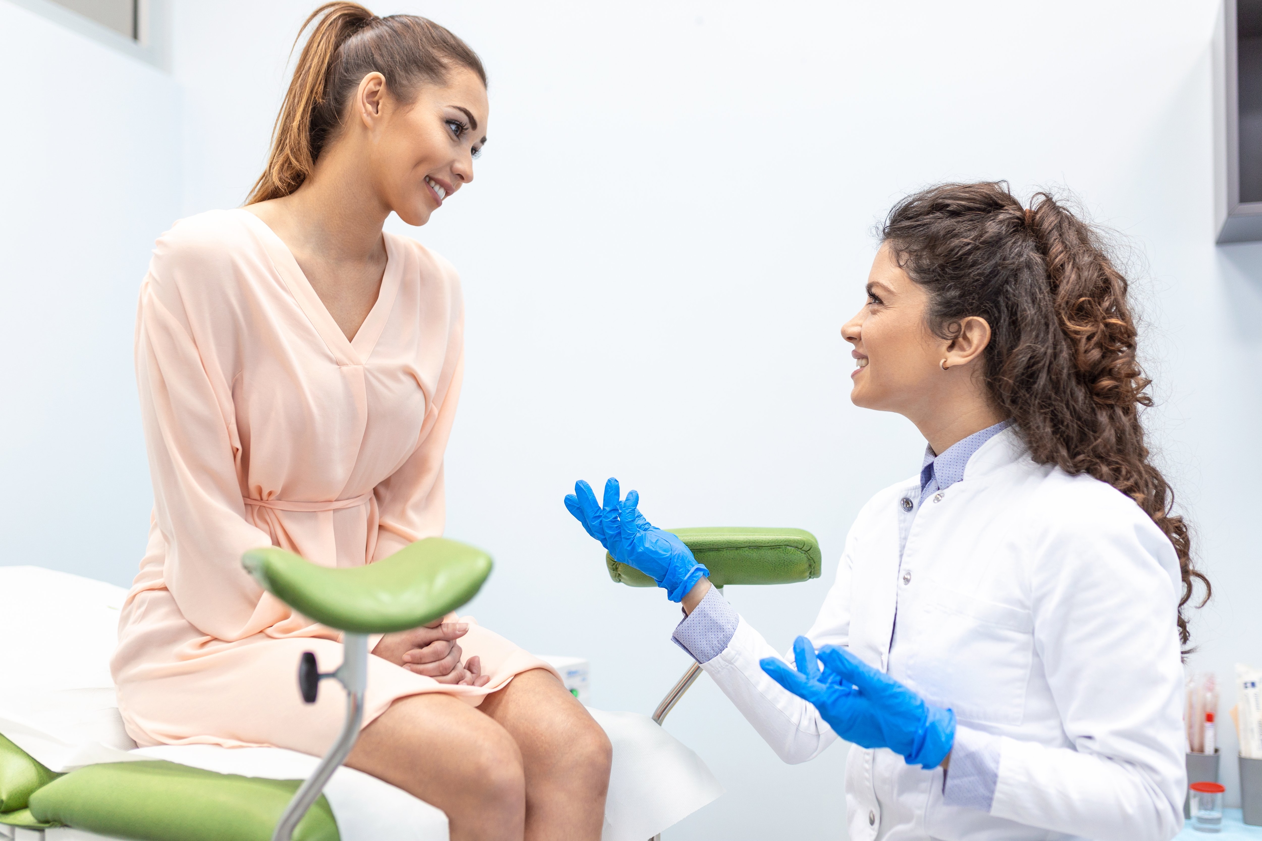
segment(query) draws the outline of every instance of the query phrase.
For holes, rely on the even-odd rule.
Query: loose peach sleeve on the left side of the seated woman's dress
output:
[[[180,613],[226,641],[281,620],[288,609],[262,599],[241,569],[242,552],[271,540],[245,517],[230,383],[194,342],[177,285],[154,274],[140,291],[136,381],[154,513],[167,543],[163,579]]]

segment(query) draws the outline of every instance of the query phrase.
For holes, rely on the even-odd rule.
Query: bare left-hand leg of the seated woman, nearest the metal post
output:
[[[516,741],[451,695],[399,699],[360,733],[346,764],[443,809],[452,841],[522,837],[526,796]]]

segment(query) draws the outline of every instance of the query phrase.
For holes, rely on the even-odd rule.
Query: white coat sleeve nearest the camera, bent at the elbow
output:
[[[1035,648],[1074,749],[998,738],[989,811],[1090,838],[1170,838],[1186,787],[1177,559],[1146,517],[1107,514],[1030,552]]]

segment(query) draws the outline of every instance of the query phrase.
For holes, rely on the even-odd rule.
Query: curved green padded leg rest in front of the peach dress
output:
[[[466,543],[427,537],[376,564],[329,569],[269,546],[241,564],[278,599],[329,628],[360,634],[406,630],[472,599],[491,574],[491,556]]]

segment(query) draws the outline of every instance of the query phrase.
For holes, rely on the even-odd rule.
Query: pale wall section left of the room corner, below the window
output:
[[[0,86],[0,564],[129,584],[151,499],[133,325],[179,207],[179,90],[6,1]]]

